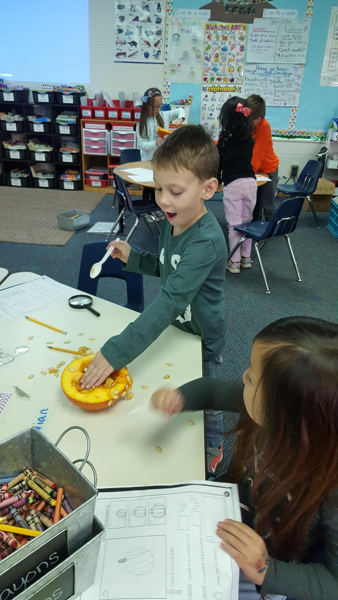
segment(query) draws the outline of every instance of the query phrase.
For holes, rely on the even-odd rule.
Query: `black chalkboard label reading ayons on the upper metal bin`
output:
[[[28,556],[17,560],[7,571],[0,574],[0,599],[11,600],[15,598],[15,596],[24,592],[29,586],[35,583],[35,581],[41,579],[43,575],[55,569],[68,556],[67,530],[64,529],[49,539],[48,542],[45,542],[45,544],[41,543]],[[61,580],[57,587],[61,587]],[[62,600],[69,598],[69,596],[58,597],[62,598]],[[45,600],[45,597],[40,595],[34,595],[34,598],[35,600],[37,598]]]

